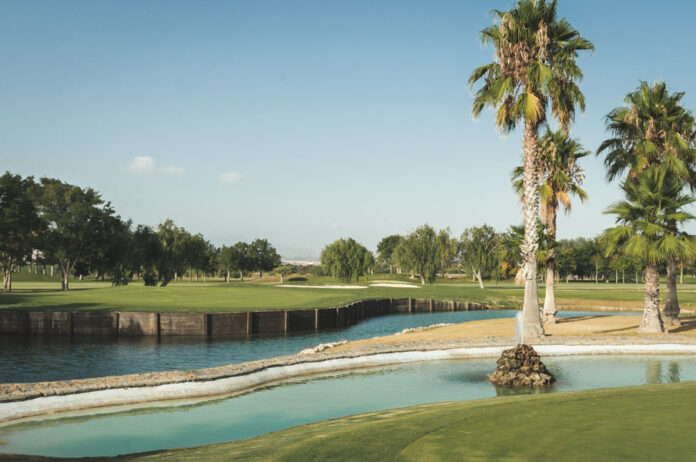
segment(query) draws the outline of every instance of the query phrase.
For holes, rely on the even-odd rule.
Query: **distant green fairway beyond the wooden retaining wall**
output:
[[[382,275],[381,279],[389,277]],[[57,280],[32,276],[17,278],[12,293],[0,294],[0,309],[31,310],[118,310],[118,311],[245,311],[298,309],[338,306],[366,298],[433,298],[486,303],[519,308],[522,288],[509,282],[489,283],[479,289],[471,282],[439,282],[417,289],[369,287],[366,289],[281,288],[272,278],[262,281],[180,281],[167,287],[145,287],[132,283],[111,287],[108,281],[73,281],[71,290],[62,292]],[[312,278],[286,285],[326,284],[330,278]],[[365,284],[361,281],[360,284]],[[679,286],[682,308],[696,306],[696,285]],[[662,291],[664,295],[664,290]],[[543,297],[543,289],[540,296]],[[643,286],[636,284],[559,283],[559,305],[587,309],[593,306],[640,308]]]

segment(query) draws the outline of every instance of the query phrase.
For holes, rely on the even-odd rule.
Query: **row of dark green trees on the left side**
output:
[[[111,203],[92,188],[53,178],[0,177],[0,266],[4,290],[12,290],[13,273],[32,255],[57,265],[61,287],[71,276],[108,275],[114,285],[134,277],[148,286],[166,286],[188,273],[244,274],[270,271],[280,256],[266,239],[216,247],[166,220],[156,227],[134,225],[116,214]]]

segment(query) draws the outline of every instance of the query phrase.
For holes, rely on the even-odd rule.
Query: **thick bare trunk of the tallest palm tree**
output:
[[[537,154],[539,127],[525,120],[524,124],[524,243],[520,250],[524,264],[524,304],[522,306],[524,343],[544,335],[539,312],[539,289],[536,280],[536,253],[539,248],[537,216],[539,212],[539,181]]]

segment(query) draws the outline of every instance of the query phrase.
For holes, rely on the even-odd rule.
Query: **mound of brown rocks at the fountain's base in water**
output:
[[[517,345],[503,351],[490,381],[497,386],[531,388],[550,385],[556,379],[531,345]]]

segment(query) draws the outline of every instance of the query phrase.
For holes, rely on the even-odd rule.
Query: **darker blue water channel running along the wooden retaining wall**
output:
[[[346,329],[249,337],[0,336],[0,383],[45,382],[140,372],[202,369],[291,355],[320,343],[391,335],[406,328],[511,318],[515,310],[393,314]],[[560,316],[604,313],[564,311]],[[614,313],[606,313],[614,314]]]

